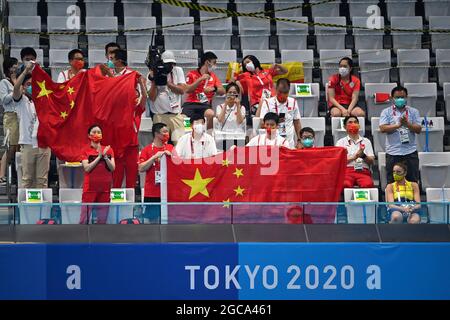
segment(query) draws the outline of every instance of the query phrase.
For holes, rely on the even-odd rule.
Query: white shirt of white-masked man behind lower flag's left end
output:
[[[217,154],[216,142],[207,133],[200,139],[194,139],[192,133],[186,133],[178,140],[175,151],[182,159],[207,158]]]

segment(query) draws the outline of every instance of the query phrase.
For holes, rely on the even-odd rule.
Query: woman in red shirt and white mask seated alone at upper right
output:
[[[327,88],[328,107],[332,117],[364,117],[357,106],[361,81],[352,75],[353,60],[345,57],[339,61],[339,73],[330,77]]]

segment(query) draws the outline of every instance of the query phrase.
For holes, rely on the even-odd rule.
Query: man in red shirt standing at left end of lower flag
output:
[[[163,155],[172,155],[173,145],[168,144],[169,129],[164,123],[155,123],[152,127],[153,142],[141,151],[139,172],[145,172],[144,202],[161,202],[160,159]],[[160,223],[161,207],[148,205],[144,218],[150,223]]]

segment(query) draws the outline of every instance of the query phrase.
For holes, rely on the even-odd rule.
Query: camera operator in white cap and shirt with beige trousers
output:
[[[181,98],[186,91],[186,80],[181,67],[172,51],[161,55],[167,75],[167,85],[157,85],[153,70],[147,78],[150,110],[153,113],[153,123],[165,123],[169,129],[172,142],[176,145],[179,137],[184,134],[184,116],[181,114]]]

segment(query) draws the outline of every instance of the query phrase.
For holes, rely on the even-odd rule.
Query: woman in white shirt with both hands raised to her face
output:
[[[236,83],[227,85],[225,103],[216,108],[220,131],[244,131],[245,107],[241,105],[240,93]]]

